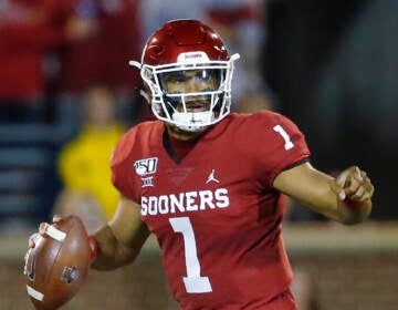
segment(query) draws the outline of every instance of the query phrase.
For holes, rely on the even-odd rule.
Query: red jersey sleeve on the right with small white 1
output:
[[[304,134],[291,120],[277,113],[266,113],[266,117],[259,115],[263,120],[258,122],[262,126],[258,132],[263,137],[256,158],[261,182],[273,187],[273,182],[281,172],[308,159],[311,153]]]

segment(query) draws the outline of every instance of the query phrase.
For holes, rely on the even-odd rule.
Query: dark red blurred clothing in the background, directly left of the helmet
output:
[[[138,70],[129,66],[128,61],[139,59],[142,50],[139,1],[122,2],[116,12],[98,7],[97,33],[71,42],[62,51],[60,91],[78,93],[97,83],[112,89],[138,85]]]

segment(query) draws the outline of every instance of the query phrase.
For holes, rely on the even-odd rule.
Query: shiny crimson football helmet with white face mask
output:
[[[237,59],[239,54],[229,56],[221,38],[208,25],[197,20],[174,20],[149,37],[140,63],[129,64],[140,70],[157,118],[198,132],[230,113]],[[196,87],[167,86],[169,81],[178,85],[192,76]]]

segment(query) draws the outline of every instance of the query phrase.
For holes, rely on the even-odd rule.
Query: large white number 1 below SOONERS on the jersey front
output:
[[[200,293],[212,291],[208,277],[200,276],[196,239],[189,217],[169,218],[172,230],[181,232],[184,237],[187,277],[182,277],[187,292]]]

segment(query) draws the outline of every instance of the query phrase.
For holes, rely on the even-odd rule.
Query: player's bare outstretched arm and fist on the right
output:
[[[305,163],[280,173],[273,186],[314,211],[346,225],[365,220],[371,210],[374,186],[356,166],[334,178]]]

